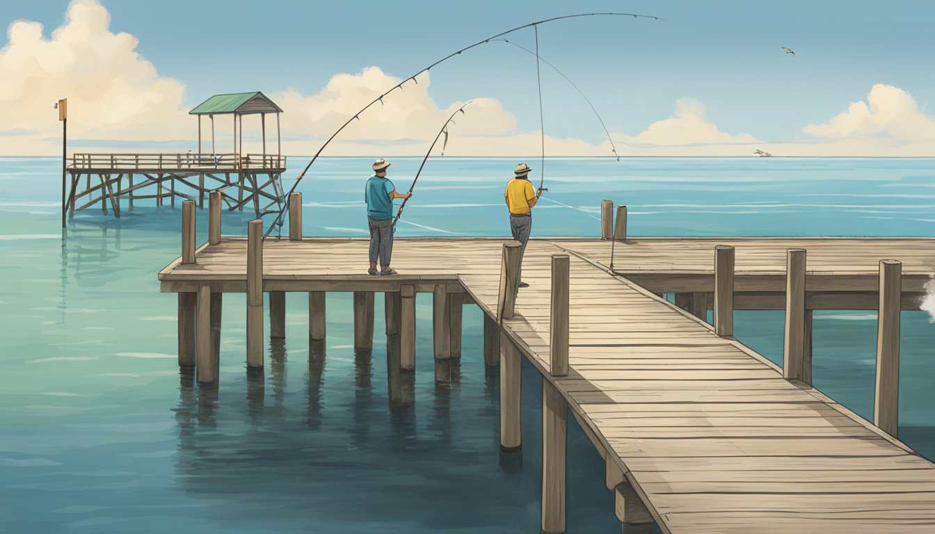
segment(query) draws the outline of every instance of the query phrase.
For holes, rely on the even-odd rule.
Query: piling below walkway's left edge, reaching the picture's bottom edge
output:
[[[548,378],[542,377],[541,531],[545,534],[565,532],[567,442],[568,403],[554,384]]]

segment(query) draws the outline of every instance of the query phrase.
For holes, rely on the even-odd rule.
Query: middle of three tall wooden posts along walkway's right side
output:
[[[805,368],[805,254],[805,249],[785,253],[785,380],[802,380]]]

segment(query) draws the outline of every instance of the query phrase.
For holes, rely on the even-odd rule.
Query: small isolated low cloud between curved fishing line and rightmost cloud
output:
[[[636,145],[680,147],[687,145],[749,144],[759,142],[750,134],[732,136],[718,129],[705,117],[704,104],[683,97],[675,103],[675,114],[669,119],[652,123],[636,137],[626,137]]]

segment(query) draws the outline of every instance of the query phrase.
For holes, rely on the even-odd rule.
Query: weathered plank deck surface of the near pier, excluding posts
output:
[[[366,239],[266,241],[264,279],[285,291],[430,291],[463,287],[496,317],[503,239],[397,239],[402,274],[370,277]],[[904,287],[935,272],[923,238],[640,238],[615,245],[618,272],[712,276],[713,248],[736,247],[736,277],[784,283],[785,251],[806,248],[810,291],[847,276],[876,291],[880,259],[903,262]],[[931,532],[935,466],[814,389],[784,381],[770,361],[637,283],[606,272],[609,241],[535,239],[530,284],[503,321],[513,342],[568,400],[626,474],[664,532]],[[568,376],[549,375],[550,259],[569,253]],[[223,238],[159,276],[164,291],[200,282],[242,291],[246,240]],[[649,280],[649,279],[647,279]],[[772,283],[772,282],[769,282]],[[840,288],[839,288],[840,289]]]

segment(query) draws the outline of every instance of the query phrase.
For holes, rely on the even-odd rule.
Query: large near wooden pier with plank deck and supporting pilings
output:
[[[368,276],[367,239],[302,238],[293,226],[289,239],[263,241],[259,222],[249,238],[222,238],[212,216],[195,250],[187,212],[191,238],[159,280],[179,294],[180,364],[197,362],[206,385],[217,380],[224,293],[247,294],[252,367],[264,364],[263,293],[271,335],[284,335],[285,294],[297,293],[309,337],[323,339],[324,292],[354,292],[358,347],[372,343],[384,293],[403,369],[421,365],[416,293],[434,296],[436,361],[460,353],[460,307],[480,307],[503,450],[522,447],[520,358],[542,376],[543,532],[565,531],[568,412],[605,458],[628,531],[935,529],[935,466],[896,438],[899,310],[918,307],[935,239],[626,238],[618,219],[607,239],[532,239],[529,287],[517,292],[518,244],[503,238],[396,239],[400,274]],[[784,368],[733,338],[737,309],[786,310]],[[810,385],[811,312],[822,309],[880,310],[876,425]]]

